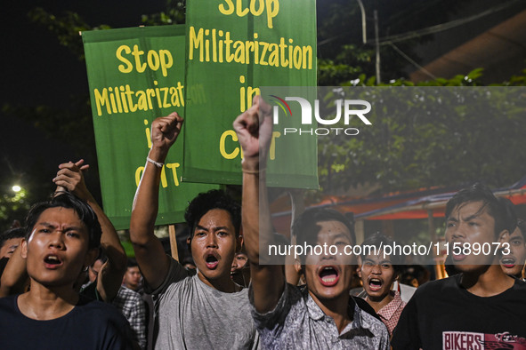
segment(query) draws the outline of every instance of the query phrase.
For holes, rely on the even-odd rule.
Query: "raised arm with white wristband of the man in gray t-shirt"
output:
[[[150,288],[157,289],[164,281],[170,259],[153,228],[158,213],[158,191],[163,163],[182,127],[182,117],[177,113],[157,118],[151,124],[152,146],[142,179],[135,193],[130,239],[134,244],[135,258]]]

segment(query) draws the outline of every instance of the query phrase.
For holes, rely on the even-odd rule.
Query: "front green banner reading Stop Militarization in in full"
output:
[[[190,88],[182,179],[239,185],[235,117],[252,105],[262,86],[316,86],[316,3],[189,0],[186,45]],[[318,188],[316,138],[281,135],[273,133],[268,185]]]

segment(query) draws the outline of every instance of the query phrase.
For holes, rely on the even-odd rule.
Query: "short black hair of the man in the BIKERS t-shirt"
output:
[[[446,220],[449,219],[451,212],[457,208],[457,206],[473,202],[481,202],[482,206],[480,211],[486,209],[488,214],[495,220],[496,236],[504,230],[510,233],[514,231],[517,221],[514,212],[507,211],[505,203],[499,201],[497,197],[493,195],[490,188],[480,182],[461,189],[449,199],[446,204]]]

